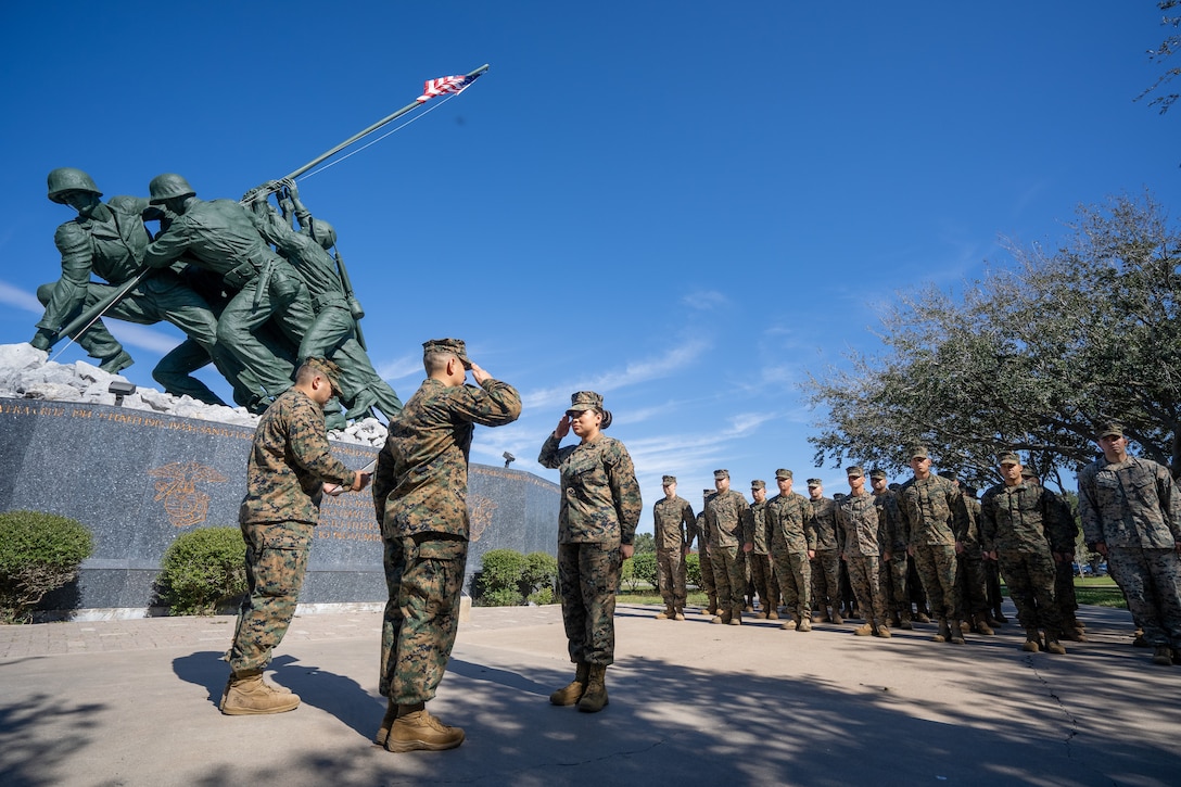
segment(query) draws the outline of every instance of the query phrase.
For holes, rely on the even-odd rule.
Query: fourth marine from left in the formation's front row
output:
[[[881,545],[886,541],[886,523],[874,496],[866,490],[866,473],[860,466],[846,470],[849,494],[836,506],[836,526],[841,542],[841,559],[849,567],[849,584],[857,597],[857,606],[866,617],[863,625],[854,629],[859,637],[875,635],[889,637],[886,627],[886,599],[879,577]]]

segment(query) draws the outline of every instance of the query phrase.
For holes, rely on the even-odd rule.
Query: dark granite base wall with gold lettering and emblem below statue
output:
[[[237,527],[253,430],[119,406],[0,398],[0,510],[77,519],[94,552],[46,611],[150,614],[161,558],[182,533]],[[477,440],[478,430],[477,430]],[[332,443],[360,468],[377,448]],[[557,546],[559,487],[530,473],[472,464],[468,581],[488,549]],[[384,604],[381,535],[368,492],[325,500],[301,606]],[[470,606],[470,599],[468,600]]]

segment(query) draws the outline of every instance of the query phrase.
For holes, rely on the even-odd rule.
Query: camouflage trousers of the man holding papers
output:
[[[242,525],[248,593],[237,612],[229,665],[235,674],[263,669],[295,617],[312,549],[311,522]]]

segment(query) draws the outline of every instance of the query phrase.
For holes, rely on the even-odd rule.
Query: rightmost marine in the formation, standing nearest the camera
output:
[[[1128,455],[1122,424],[1105,424],[1098,444],[1078,474],[1083,538],[1108,559],[1153,662],[1181,663],[1181,494],[1167,468]]]

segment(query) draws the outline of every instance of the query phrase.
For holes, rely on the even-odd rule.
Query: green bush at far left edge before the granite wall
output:
[[[92,549],[90,531],[77,520],[35,510],[0,514],[0,622],[28,620],[46,593],[78,575]]]

